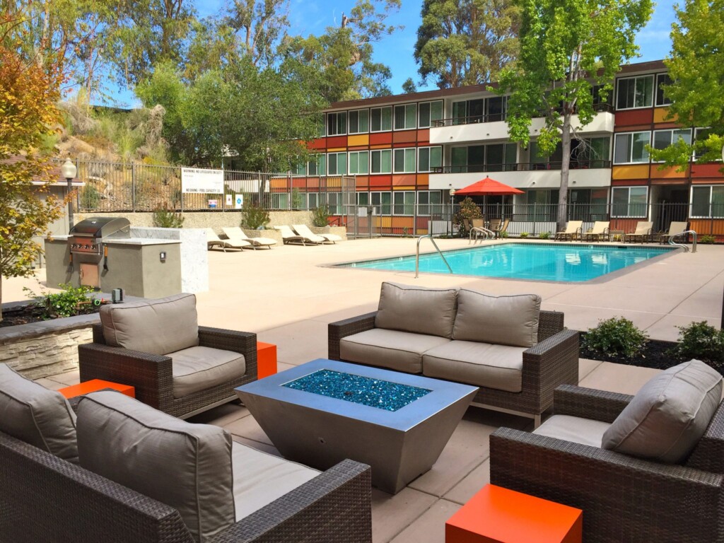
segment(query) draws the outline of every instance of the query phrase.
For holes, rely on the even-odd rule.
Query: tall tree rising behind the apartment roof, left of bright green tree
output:
[[[487,83],[515,59],[519,8],[513,0],[425,0],[415,60],[439,88]]]

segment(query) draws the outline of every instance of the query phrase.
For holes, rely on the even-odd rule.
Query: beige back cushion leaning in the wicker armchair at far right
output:
[[[698,360],[673,366],[641,387],[604,434],[603,447],[668,463],[686,460],[722,396],[722,376]]]

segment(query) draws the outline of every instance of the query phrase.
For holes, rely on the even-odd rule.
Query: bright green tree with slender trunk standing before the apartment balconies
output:
[[[652,13],[651,0],[525,0],[522,4],[520,56],[501,72],[498,93],[510,92],[510,139],[527,146],[531,120],[544,117],[538,148],[547,154],[560,143],[557,228],[568,214],[568,169],[575,130],[592,122],[593,85],[602,98],[620,64],[636,54],[636,32]],[[573,124],[573,115],[578,122]]]

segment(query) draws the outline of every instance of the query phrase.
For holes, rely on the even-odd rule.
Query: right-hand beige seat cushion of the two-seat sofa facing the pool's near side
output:
[[[451,341],[422,355],[422,373],[476,387],[508,392],[523,389],[522,347],[473,341]]]

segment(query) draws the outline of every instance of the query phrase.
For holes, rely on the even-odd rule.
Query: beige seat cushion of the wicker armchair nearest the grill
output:
[[[174,397],[188,396],[246,373],[244,355],[231,350],[190,347],[169,356],[173,361]]]

